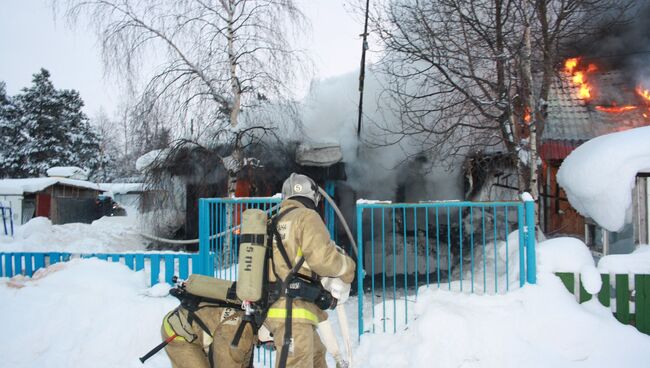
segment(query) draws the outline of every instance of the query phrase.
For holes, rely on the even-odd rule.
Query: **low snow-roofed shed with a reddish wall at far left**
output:
[[[90,223],[97,219],[96,200],[102,192],[95,183],[68,178],[0,180],[0,202],[11,207],[18,225],[37,216],[53,224]]]

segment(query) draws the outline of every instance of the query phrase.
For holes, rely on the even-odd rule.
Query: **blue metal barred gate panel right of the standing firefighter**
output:
[[[358,201],[359,336],[406,325],[421,286],[498,294],[535,283],[534,223],[531,201]]]

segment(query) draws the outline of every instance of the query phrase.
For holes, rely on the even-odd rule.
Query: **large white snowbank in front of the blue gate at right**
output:
[[[516,239],[513,234],[509,238]],[[584,243],[572,238],[541,242],[537,261],[538,283],[505,295],[420,288],[418,300],[409,306],[408,328],[364,335],[355,367],[647,365],[649,336],[620,324],[596,298],[578,304],[553,275],[580,272],[588,291],[600,290],[600,277]]]

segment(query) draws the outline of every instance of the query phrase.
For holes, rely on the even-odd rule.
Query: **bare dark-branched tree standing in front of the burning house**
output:
[[[505,149],[537,199],[537,145],[562,52],[621,19],[618,0],[385,0],[373,15],[406,136],[438,161]]]

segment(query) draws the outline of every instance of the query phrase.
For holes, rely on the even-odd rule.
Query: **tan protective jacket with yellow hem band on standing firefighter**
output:
[[[283,215],[285,211],[288,212]],[[296,265],[301,257],[305,257],[298,274],[308,279],[338,277],[346,283],[352,282],[355,272],[354,261],[330,239],[327,227],[316,211],[307,208],[297,200],[286,199],[280,205],[280,215],[277,230],[291,260],[291,266]],[[284,280],[291,269],[283,260],[275,239],[271,263],[269,280],[271,282]],[[286,313],[286,301],[281,297],[271,305],[267,321],[284,320]],[[326,319],[327,313],[314,303],[299,299],[293,301],[294,322],[317,325]]]

